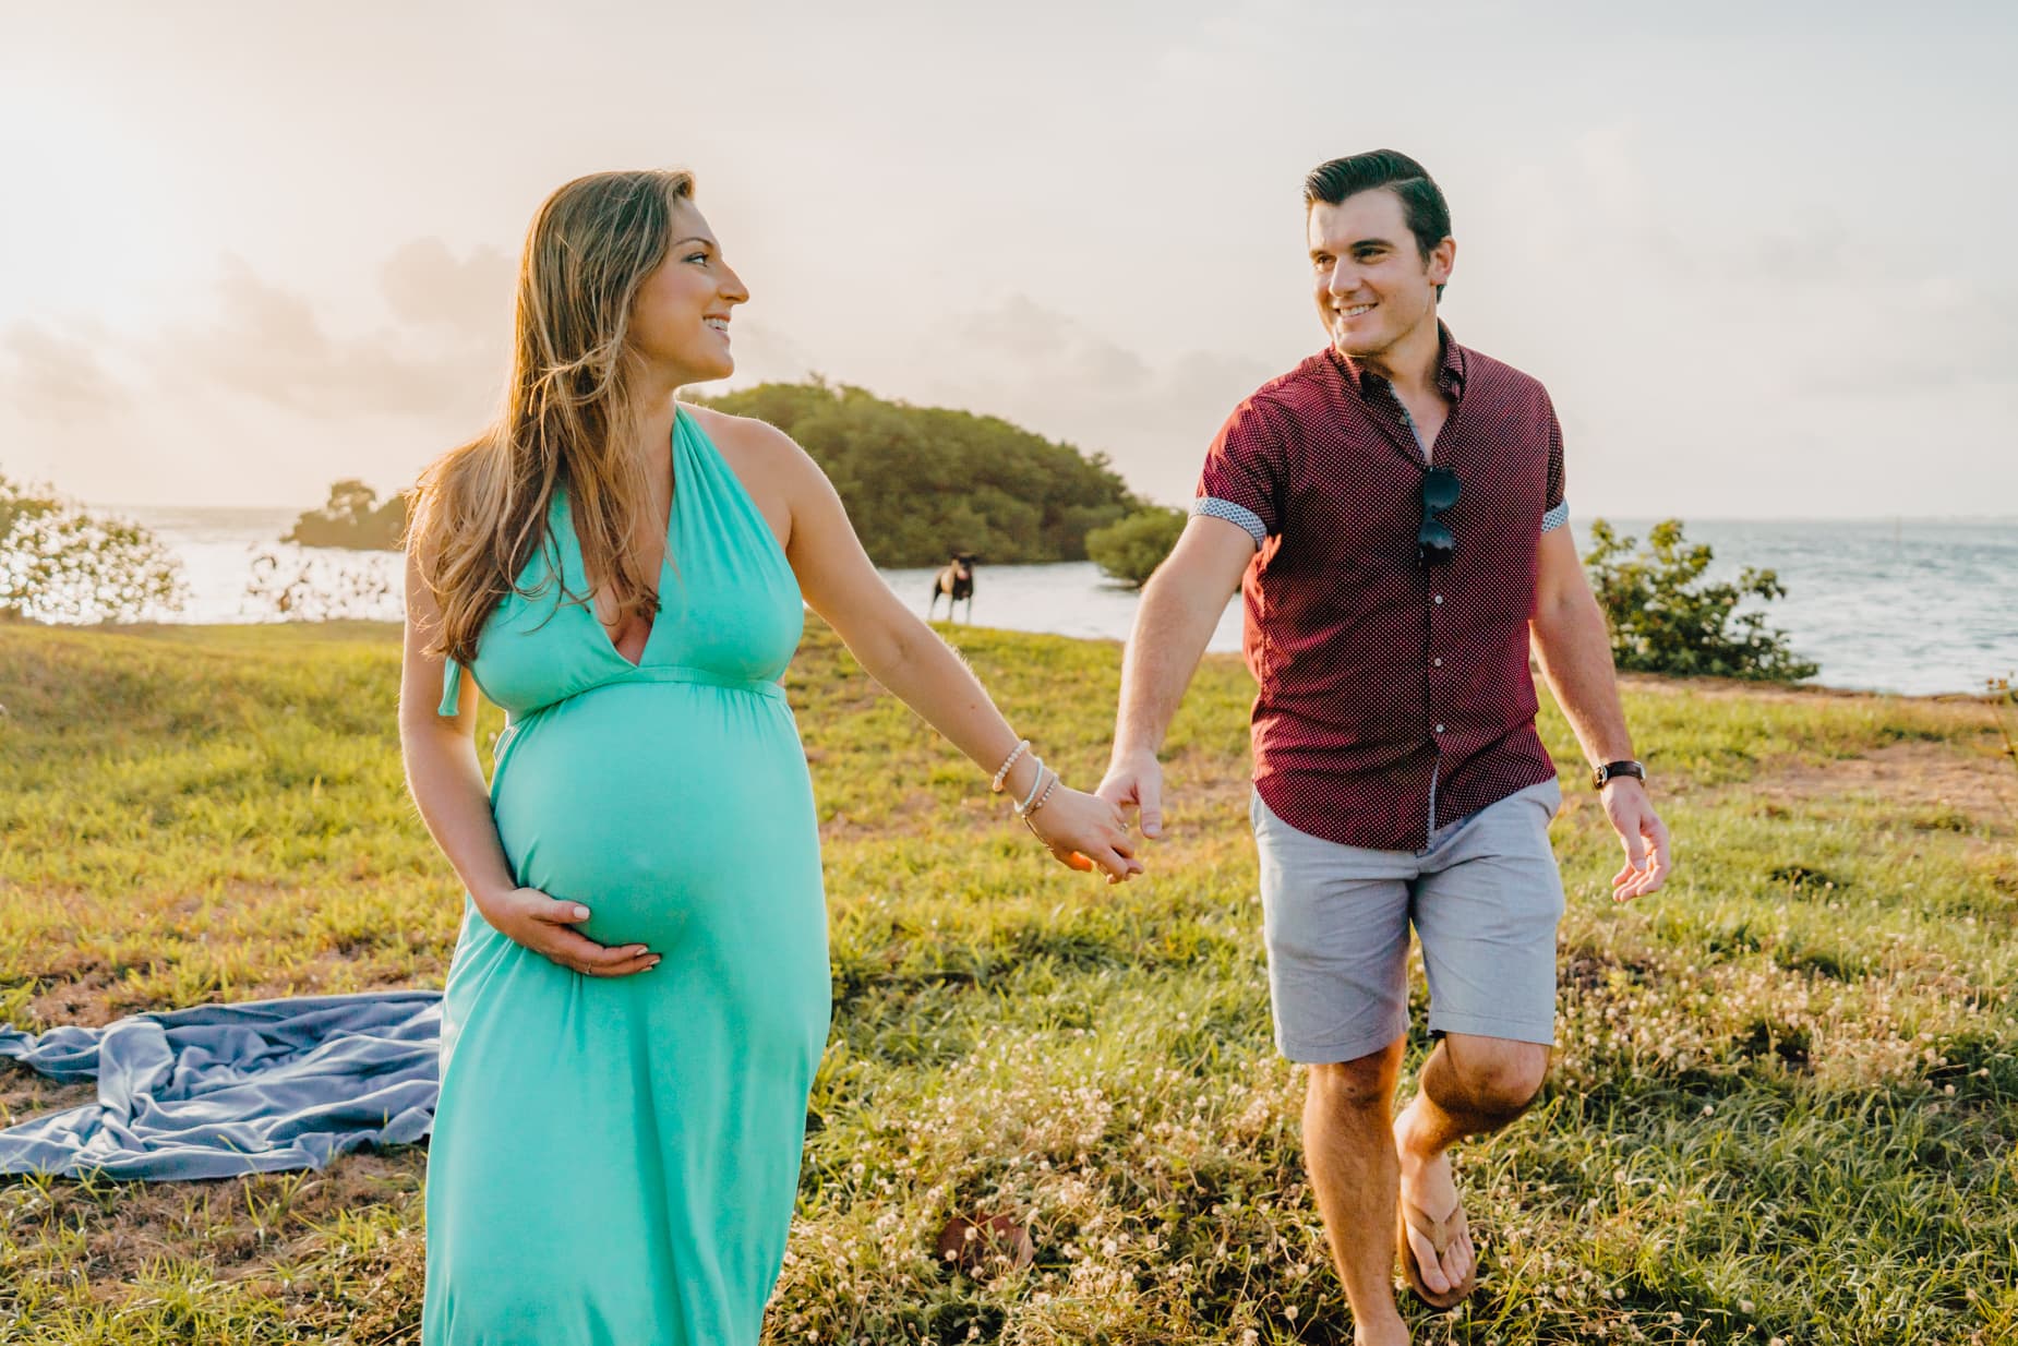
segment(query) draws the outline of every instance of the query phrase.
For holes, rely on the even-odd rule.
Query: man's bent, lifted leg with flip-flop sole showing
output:
[[[1421,1088],[1394,1118],[1400,1197],[1429,1219],[1449,1219],[1459,1209],[1451,1146],[1513,1122],[1542,1092],[1546,1076],[1546,1045],[1449,1033],[1423,1061]],[[1423,1283],[1435,1294],[1461,1283],[1477,1265],[1469,1229],[1443,1249],[1441,1263],[1429,1237],[1413,1227],[1409,1243],[1423,1269]]]

